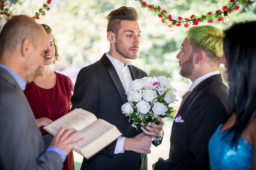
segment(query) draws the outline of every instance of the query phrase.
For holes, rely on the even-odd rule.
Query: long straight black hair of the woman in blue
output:
[[[256,21],[240,22],[226,31],[223,49],[227,58],[229,81],[229,113],[235,113],[236,123],[232,146],[237,145],[256,110]],[[253,117],[254,119],[255,117]],[[227,135],[228,136],[228,135]]]

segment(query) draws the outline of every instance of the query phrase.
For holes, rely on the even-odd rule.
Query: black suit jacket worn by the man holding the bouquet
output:
[[[132,80],[147,76],[135,66],[129,65],[129,70]],[[116,69],[105,54],[96,63],[79,71],[71,102],[71,110],[82,108],[92,112],[98,119],[114,124],[124,137],[135,137],[138,134],[136,129],[127,133],[131,122],[121,111],[127,96]],[[114,154],[115,147],[116,141],[91,159],[84,159],[81,169],[138,169],[139,153],[124,151]]]

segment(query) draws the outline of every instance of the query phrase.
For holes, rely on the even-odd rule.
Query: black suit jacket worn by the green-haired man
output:
[[[173,122],[169,160],[159,160],[155,170],[210,169],[208,142],[228,116],[228,88],[220,74],[202,81],[187,97]]]

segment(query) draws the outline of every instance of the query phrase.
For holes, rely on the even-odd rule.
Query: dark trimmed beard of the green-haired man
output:
[[[192,72],[194,70],[193,55],[194,54],[191,54],[189,56],[188,60],[183,64],[181,64],[181,62],[179,61],[179,63],[180,63],[180,75],[182,77],[188,78],[192,74]]]

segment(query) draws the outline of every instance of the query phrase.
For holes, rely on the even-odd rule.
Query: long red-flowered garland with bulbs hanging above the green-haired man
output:
[[[234,9],[235,11],[239,10],[240,6],[238,4],[247,4],[248,0],[230,0],[230,4],[224,5],[222,7],[222,10],[215,11],[215,14],[213,12],[208,12],[206,15],[202,14],[200,17],[191,15],[190,18],[182,18],[178,17],[177,20],[172,19],[172,15],[167,14],[166,10],[161,9],[159,5],[154,4],[147,4],[143,0],[135,0],[139,1],[141,8],[148,8],[148,11],[154,11],[159,18],[161,18],[163,23],[167,23],[169,28],[173,28],[175,25],[177,27],[181,26],[181,24],[184,25],[184,27],[188,28],[191,24],[194,26],[197,26],[200,22],[204,22],[204,20],[207,20],[208,23],[213,23],[214,19],[217,18],[217,21],[221,22],[224,20],[225,17],[228,17],[228,14],[232,12]],[[222,16],[223,15],[223,16]],[[177,23],[177,24],[176,24]]]

